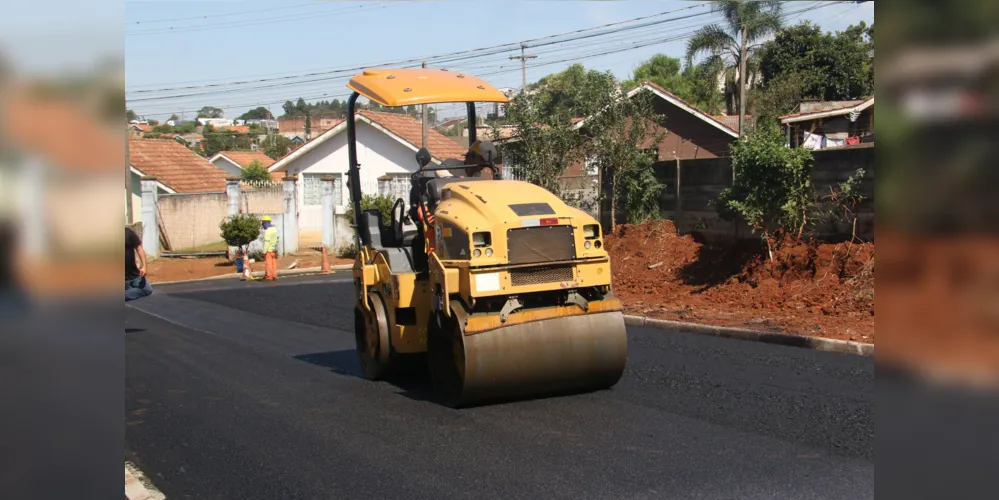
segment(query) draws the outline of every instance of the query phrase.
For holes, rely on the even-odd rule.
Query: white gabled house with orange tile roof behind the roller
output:
[[[422,142],[419,120],[403,114],[362,110],[357,113],[357,161],[361,192],[393,199],[409,197],[409,175],[415,172],[416,152]],[[435,164],[464,158],[466,148],[427,127],[427,150]],[[347,123],[344,121],[307,142],[270,167],[271,175],[297,175],[298,227],[302,239],[322,234],[321,178],[332,175],[337,214],[346,213],[350,197],[347,178]],[[353,238],[346,218],[337,218],[337,241]]]

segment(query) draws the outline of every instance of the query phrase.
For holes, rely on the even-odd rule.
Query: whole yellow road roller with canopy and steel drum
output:
[[[551,192],[499,179],[495,147],[476,138],[475,105],[506,95],[441,69],[366,70],[347,86],[354,328],[365,376],[402,373],[415,358],[450,407],[614,386],[627,337],[603,231]],[[388,221],[361,208],[361,96],[387,107],[466,103],[468,112],[475,151],[464,159],[417,151],[409,200],[397,199]],[[481,175],[467,175],[475,170]]]

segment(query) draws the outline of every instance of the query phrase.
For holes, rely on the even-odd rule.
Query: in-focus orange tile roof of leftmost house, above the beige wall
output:
[[[178,193],[225,191],[226,171],[173,139],[128,139],[131,165]]]

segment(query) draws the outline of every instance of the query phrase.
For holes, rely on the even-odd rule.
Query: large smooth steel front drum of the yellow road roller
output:
[[[621,312],[547,319],[464,335],[452,320],[429,339],[444,404],[468,406],[612,387],[627,358]]]

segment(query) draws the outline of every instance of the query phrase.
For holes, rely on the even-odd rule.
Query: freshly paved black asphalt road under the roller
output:
[[[130,303],[126,459],[178,499],[874,496],[870,358],[629,328],[612,390],[451,410],[359,377],[344,278]]]

